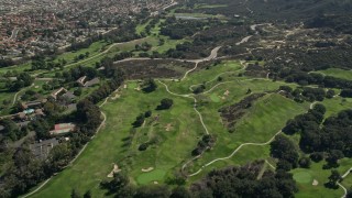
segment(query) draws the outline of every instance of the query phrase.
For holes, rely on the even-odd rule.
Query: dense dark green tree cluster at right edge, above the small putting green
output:
[[[307,113],[289,120],[283,131],[286,134],[299,132],[299,146],[312,161],[326,158],[324,167],[337,167],[340,158],[352,156],[352,110],[341,111],[322,122],[324,112],[322,105],[316,105]]]

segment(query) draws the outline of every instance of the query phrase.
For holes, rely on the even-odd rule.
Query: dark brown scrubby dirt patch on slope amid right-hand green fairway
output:
[[[246,110],[252,107],[252,102],[263,96],[265,96],[265,94],[253,94],[245,97],[238,103],[223,107],[219,110],[222,122],[229,129],[229,131],[234,130],[235,123],[245,114]]]

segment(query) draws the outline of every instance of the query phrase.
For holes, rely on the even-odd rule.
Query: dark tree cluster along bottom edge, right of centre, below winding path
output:
[[[266,170],[263,162],[210,172],[191,186],[194,197],[294,197],[298,191],[293,175],[283,169]]]

